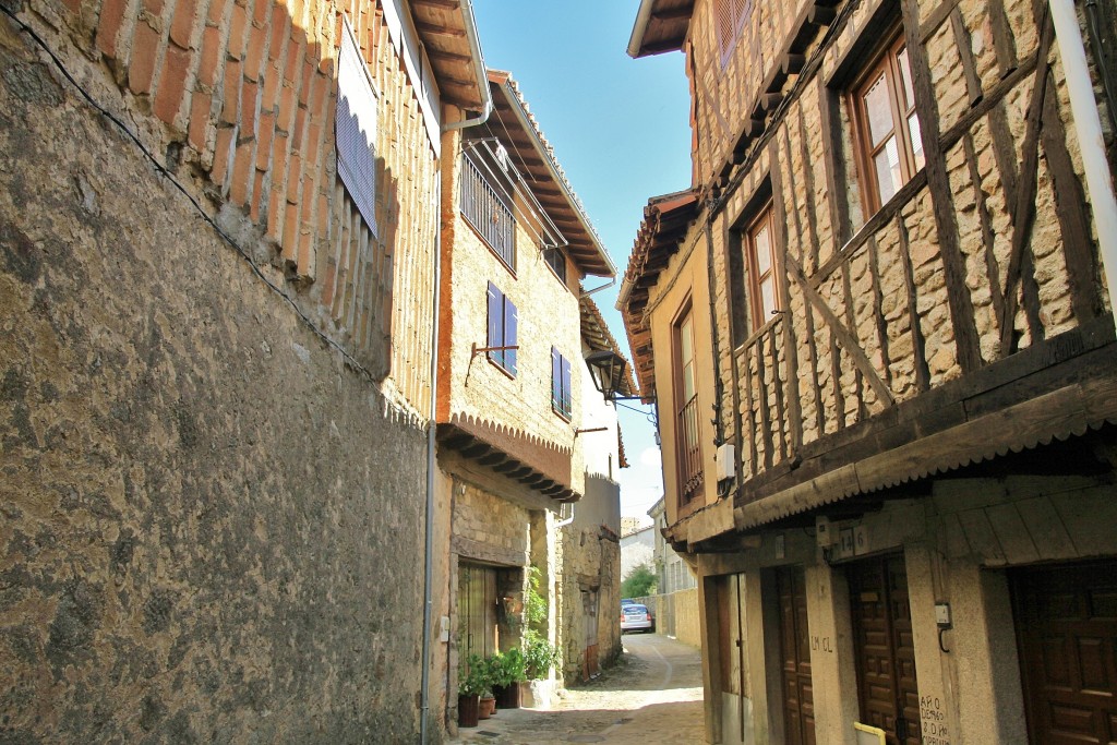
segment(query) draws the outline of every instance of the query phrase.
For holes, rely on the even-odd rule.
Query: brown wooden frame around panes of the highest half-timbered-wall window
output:
[[[914,179],[922,169],[916,163],[915,147],[908,126],[908,117],[916,113],[915,90],[908,92],[911,96],[911,105],[907,106],[907,102],[904,101],[904,74],[899,66],[899,55],[907,47],[904,28],[897,25],[884,36],[888,41],[872,55],[872,61],[866,66],[862,73],[857,75],[853,85],[850,86],[846,95],[853,130],[852,141],[857,168],[860,171],[861,206],[865,209],[866,220],[876,214],[887,201],[880,198],[880,183],[873,166],[873,155],[880,152],[885,145],[881,144],[873,150],[868,111],[865,106],[865,94],[868,93],[881,73],[885,75],[885,85],[888,90],[888,107],[892,118],[891,134],[896,136],[899,154],[900,184],[896,188],[896,192],[899,192],[904,184]],[[908,65],[910,70],[910,61]],[[882,143],[887,142],[888,137],[886,136]],[[920,142],[919,145],[922,149],[923,143]]]

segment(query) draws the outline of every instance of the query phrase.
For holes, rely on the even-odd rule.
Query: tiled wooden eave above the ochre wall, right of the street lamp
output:
[[[651,353],[651,329],[645,318],[650,288],[659,280],[671,256],[679,249],[690,223],[698,214],[696,190],[653,197],[643,209],[643,222],[637,232],[624,285],[628,295],[620,308],[628,332],[629,350],[640,391],[656,392],[656,367]]]

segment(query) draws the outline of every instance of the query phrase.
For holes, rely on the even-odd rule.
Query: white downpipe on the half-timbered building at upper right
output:
[[[1098,229],[1101,266],[1109,288],[1109,309],[1117,315],[1117,197],[1114,195],[1109,160],[1101,139],[1101,118],[1098,116],[1094,84],[1086,61],[1086,46],[1078,26],[1075,0],[1049,1],[1051,20],[1054,21],[1054,39],[1070,93],[1075,134],[1078,135],[1078,146],[1082,151],[1087,198],[1094,208],[1094,222]]]

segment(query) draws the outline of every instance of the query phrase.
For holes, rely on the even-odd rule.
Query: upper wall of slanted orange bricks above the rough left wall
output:
[[[386,389],[423,411],[438,160],[374,1],[106,0],[25,16],[66,32],[111,111],[189,174],[203,207],[247,214],[277,280]],[[336,58],[346,15],[380,93],[373,235],[336,178]],[[106,67],[101,67],[104,64]]]

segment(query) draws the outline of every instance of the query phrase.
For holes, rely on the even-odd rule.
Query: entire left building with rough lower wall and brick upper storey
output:
[[[468,2],[0,10],[0,739],[414,741]]]

